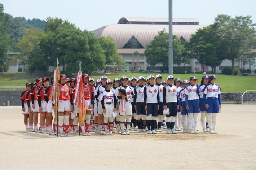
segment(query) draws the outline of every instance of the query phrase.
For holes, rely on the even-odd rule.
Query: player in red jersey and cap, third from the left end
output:
[[[35,87],[32,87],[30,95],[31,95],[31,101],[32,101],[32,109],[33,109],[33,113],[34,113],[34,117],[33,117],[34,131],[35,131],[35,133],[40,133],[40,131],[37,128],[38,112],[39,112],[37,93],[38,93],[39,88],[42,85],[42,78],[37,78],[36,83],[37,83],[37,85]]]

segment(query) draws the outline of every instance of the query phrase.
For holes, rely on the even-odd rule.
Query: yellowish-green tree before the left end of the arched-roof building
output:
[[[105,65],[123,66],[124,60],[117,53],[117,47],[112,37],[100,37],[99,43],[105,55]],[[122,62],[123,61],[123,62]],[[106,68],[105,68],[106,73]]]

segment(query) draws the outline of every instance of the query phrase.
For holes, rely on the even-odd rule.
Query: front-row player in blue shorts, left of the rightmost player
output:
[[[190,133],[198,133],[198,115],[199,110],[199,96],[200,90],[198,85],[196,85],[196,77],[190,76],[190,85],[185,88],[185,98],[186,98],[186,109],[189,113],[189,124],[190,124]]]

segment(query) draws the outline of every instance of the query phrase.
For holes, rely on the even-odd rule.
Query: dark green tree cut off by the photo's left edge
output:
[[[9,57],[6,52],[10,49],[10,38],[7,34],[10,26],[10,18],[4,15],[4,6],[0,3],[0,71],[8,70]]]

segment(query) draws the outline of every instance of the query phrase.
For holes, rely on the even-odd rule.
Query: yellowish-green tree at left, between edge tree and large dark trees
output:
[[[47,63],[40,49],[42,31],[38,28],[25,30],[23,37],[18,41],[18,48],[22,52],[22,60],[27,63],[27,70],[32,72],[45,71]]]

